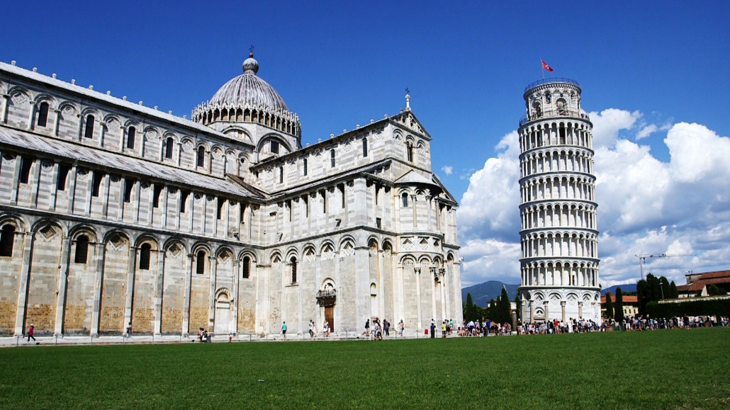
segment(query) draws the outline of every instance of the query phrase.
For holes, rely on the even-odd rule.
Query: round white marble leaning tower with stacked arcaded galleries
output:
[[[520,299],[523,322],[600,323],[596,177],[591,120],[580,86],[548,79],[527,86],[520,120]]]

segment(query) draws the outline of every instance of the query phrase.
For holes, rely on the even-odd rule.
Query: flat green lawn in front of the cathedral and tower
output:
[[[730,408],[730,328],[0,349],[0,408]]]

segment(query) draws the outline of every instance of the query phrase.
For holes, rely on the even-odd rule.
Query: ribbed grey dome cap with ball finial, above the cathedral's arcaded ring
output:
[[[226,82],[208,104],[221,107],[269,107],[285,109],[286,103],[268,82],[258,77],[258,61],[253,53],[243,62],[243,74]]]

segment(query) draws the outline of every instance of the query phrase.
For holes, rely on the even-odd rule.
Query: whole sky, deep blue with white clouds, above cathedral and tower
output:
[[[254,45],[304,143],[393,115],[410,88],[470,285],[519,281],[513,131],[542,57],[592,113],[603,285],[635,281],[642,253],[694,255],[647,263],[678,283],[730,268],[730,5],[502,3],[14,1],[0,60],[189,117]]]

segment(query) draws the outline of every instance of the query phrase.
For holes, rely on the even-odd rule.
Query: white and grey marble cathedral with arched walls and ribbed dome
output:
[[[0,94],[1,336],[461,321],[458,204],[410,96],[303,146],[253,54],[189,120],[15,62]]]

